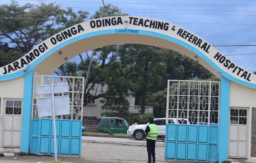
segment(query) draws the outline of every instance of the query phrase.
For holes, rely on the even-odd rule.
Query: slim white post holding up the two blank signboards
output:
[[[54,108],[54,91],[53,91],[53,82],[51,82],[51,93],[52,93],[52,108],[53,108],[54,158],[55,158],[55,162],[58,162],[58,160],[57,160],[57,141],[56,141],[56,123],[55,123],[55,108]]]

